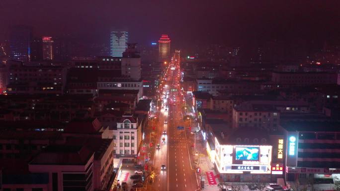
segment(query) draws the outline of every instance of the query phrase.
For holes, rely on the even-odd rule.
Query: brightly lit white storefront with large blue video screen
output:
[[[220,145],[215,137],[215,152],[223,181],[270,182],[271,145]]]

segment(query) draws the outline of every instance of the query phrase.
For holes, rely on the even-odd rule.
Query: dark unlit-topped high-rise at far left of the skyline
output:
[[[10,54],[14,61],[29,62],[31,57],[31,28],[27,26],[15,26],[10,32]]]

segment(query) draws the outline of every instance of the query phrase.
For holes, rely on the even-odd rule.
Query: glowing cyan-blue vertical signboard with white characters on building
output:
[[[288,132],[286,143],[286,165],[289,167],[295,167],[297,165],[298,154],[298,132]]]

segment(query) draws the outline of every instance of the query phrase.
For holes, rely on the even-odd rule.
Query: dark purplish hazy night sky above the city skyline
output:
[[[11,25],[34,36],[71,34],[105,42],[110,27],[149,43],[161,33],[175,46],[247,44],[267,39],[340,38],[339,0],[0,0],[0,40]]]

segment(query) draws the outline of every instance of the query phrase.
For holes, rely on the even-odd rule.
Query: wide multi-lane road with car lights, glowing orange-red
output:
[[[155,142],[155,154],[152,159],[156,179],[148,188],[152,191],[195,191],[198,188],[192,163],[190,132],[183,122],[179,62],[180,55],[176,52],[160,86],[159,97],[163,103],[160,108],[160,123],[157,127],[157,142]],[[157,144],[160,144],[160,148],[157,148]],[[165,165],[165,169],[162,169],[162,165]]]

